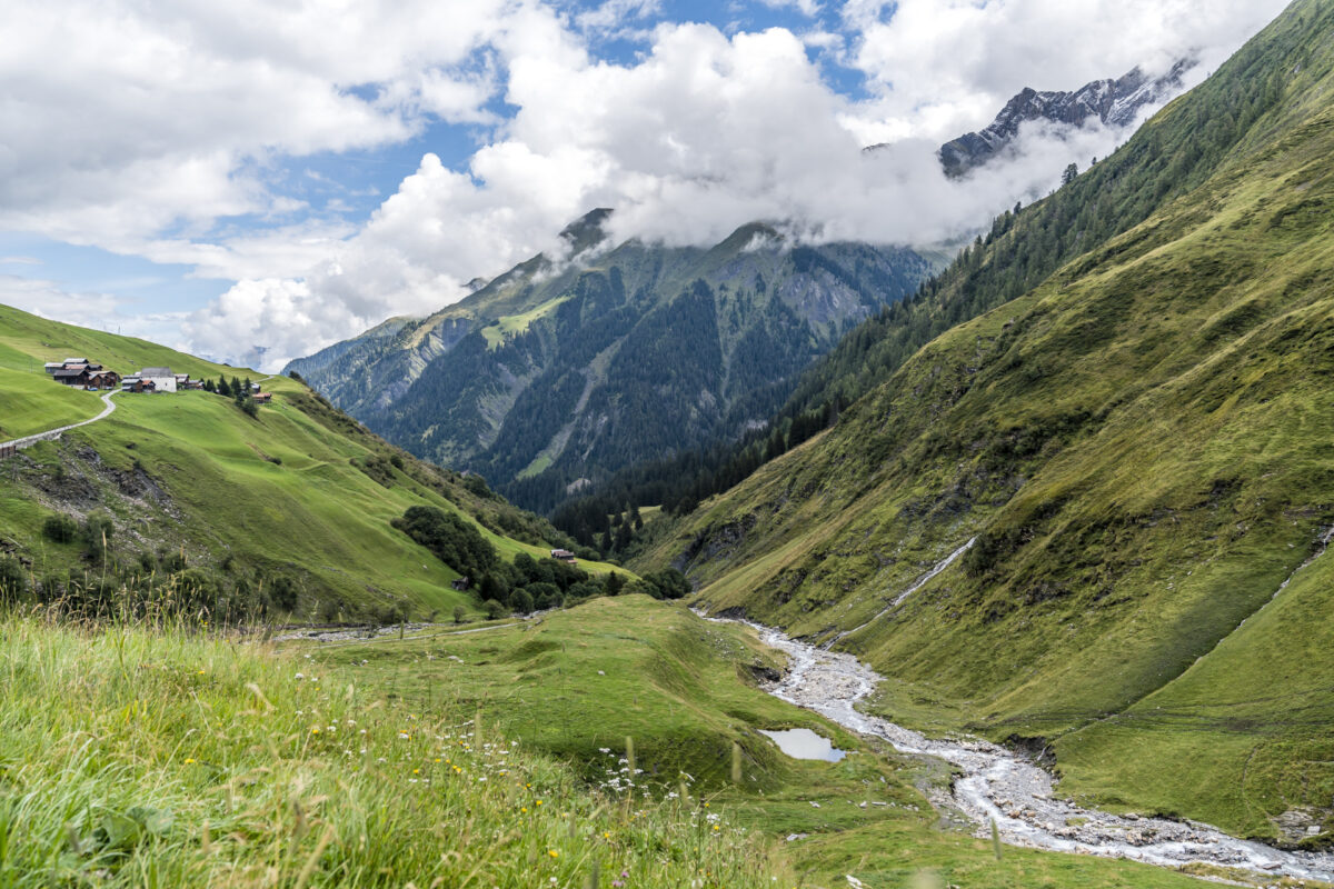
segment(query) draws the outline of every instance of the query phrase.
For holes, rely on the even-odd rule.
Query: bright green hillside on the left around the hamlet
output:
[[[165,364],[196,375],[263,376],[7,307],[0,312],[7,324],[0,348],[11,363],[0,375],[7,431],[36,432],[101,409],[96,393],[69,391],[41,371],[48,355],[85,355],[112,369]],[[20,356],[32,357],[24,364]],[[550,525],[479,480],[387,445],[299,381],[273,377],[263,385],[273,400],[255,417],[208,392],[119,393],[105,420],[9,457],[0,465],[0,538],[23,561],[25,586],[51,600],[73,586],[104,585],[108,574],[183,576],[204,598],[233,609],[264,602],[324,620],[424,616],[480,602],[451,589],[458,572],[391,526],[408,508],[463,514],[503,561],[520,552],[543,558],[562,545]],[[85,540],[44,533],[51,516],[109,520],[105,564]]]

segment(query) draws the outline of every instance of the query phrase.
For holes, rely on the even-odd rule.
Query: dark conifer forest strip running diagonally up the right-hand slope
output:
[[[551,513],[552,521],[582,536],[584,528],[596,530],[600,516],[626,504],[690,512],[826,428],[934,337],[1031,291],[1073,257],[1198,187],[1282,96],[1283,75],[1258,48],[1239,52],[1231,71],[1234,76],[1213,79],[1195,91],[1197,99],[1182,112],[1189,121],[1147,125],[1046,200],[1017,204],[996,217],[990,232],[924,281],[914,297],[891,303],[803,371],[763,429],[708,449],[630,465],[562,504]]]

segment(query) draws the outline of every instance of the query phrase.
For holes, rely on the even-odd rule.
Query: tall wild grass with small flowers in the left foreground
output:
[[[359,678],[184,625],[0,617],[0,886],[780,876],[698,806],[616,805],[494,726],[478,737],[471,709],[408,712]]]

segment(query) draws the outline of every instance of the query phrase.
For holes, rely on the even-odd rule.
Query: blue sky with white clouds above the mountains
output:
[[[1127,132],[935,149],[1023,87],[1217,68],[1282,0],[9,0],[0,303],[276,371],[612,236],[931,247]],[[871,144],[886,148],[863,152]]]

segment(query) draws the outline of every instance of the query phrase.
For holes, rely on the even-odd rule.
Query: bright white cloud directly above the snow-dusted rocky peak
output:
[[[1135,65],[1165,72],[1190,51],[1198,80],[1287,0],[852,0],[847,64],[880,116],[946,140],[990,123],[1023,87],[1075,89]],[[892,15],[890,12],[892,11]]]

